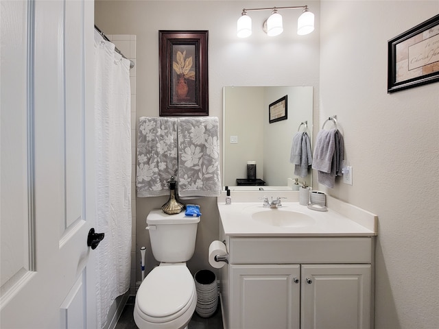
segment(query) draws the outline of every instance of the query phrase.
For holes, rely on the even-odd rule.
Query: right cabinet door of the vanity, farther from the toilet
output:
[[[369,329],[370,265],[302,265],[302,329]]]

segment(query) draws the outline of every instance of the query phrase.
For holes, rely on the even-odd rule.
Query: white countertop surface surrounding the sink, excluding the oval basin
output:
[[[257,199],[257,198],[256,198]],[[289,197],[282,208],[263,208],[262,202],[232,202],[218,198],[219,217],[227,236],[376,236],[377,215],[340,200],[327,200],[329,210],[320,212],[301,206]],[[335,208],[337,211],[331,208]],[[275,226],[252,219],[252,212],[294,211],[312,217],[313,223],[298,228]],[[294,216],[294,214],[292,214]]]

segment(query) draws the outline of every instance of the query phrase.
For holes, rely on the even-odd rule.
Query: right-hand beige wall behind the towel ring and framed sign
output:
[[[320,124],[337,114],[353,186],[379,215],[375,328],[439,328],[439,83],[387,93],[387,45],[439,1],[322,1]]]

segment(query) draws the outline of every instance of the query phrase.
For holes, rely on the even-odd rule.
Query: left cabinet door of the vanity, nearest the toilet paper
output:
[[[300,265],[231,265],[230,329],[298,329]]]

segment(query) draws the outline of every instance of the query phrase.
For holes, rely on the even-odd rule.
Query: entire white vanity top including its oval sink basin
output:
[[[239,193],[236,193],[236,195],[239,195]],[[256,193],[256,195],[263,194]],[[250,196],[251,198],[244,194],[241,202],[237,202],[237,198],[234,197],[232,204],[226,204],[225,200],[218,202],[221,226],[226,236],[377,235],[375,215],[369,212],[357,212],[358,209],[351,206],[344,209],[344,205],[336,204],[339,209],[346,210],[349,216],[358,218],[357,221],[340,215],[335,210],[327,212],[311,210],[298,202],[282,202],[282,207],[277,209],[265,208],[262,202],[247,201],[256,198],[253,195]],[[296,197],[296,195],[293,196]],[[364,223],[367,226],[364,226]]]

